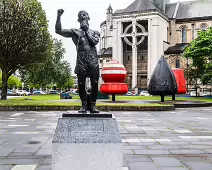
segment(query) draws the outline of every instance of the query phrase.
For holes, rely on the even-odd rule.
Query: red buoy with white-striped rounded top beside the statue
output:
[[[116,94],[126,94],[128,85],[124,83],[127,71],[123,64],[116,60],[111,60],[102,68],[102,79],[100,92],[103,94],[112,94],[112,101],[115,101]]]

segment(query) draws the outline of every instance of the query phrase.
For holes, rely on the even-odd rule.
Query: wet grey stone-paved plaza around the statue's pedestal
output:
[[[1,112],[0,170],[51,170],[52,136],[63,113]],[[123,170],[212,169],[212,107],[112,113]]]

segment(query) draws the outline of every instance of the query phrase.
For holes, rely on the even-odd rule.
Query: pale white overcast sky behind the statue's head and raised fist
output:
[[[76,65],[76,47],[71,38],[65,38],[55,34],[55,22],[57,17],[57,9],[64,9],[61,18],[62,28],[79,28],[77,22],[77,14],[80,10],[85,10],[90,16],[90,28],[92,30],[100,31],[100,24],[106,19],[106,9],[111,4],[113,11],[117,9],[124,9],[130,5],[134,0],[38,0],[41,2],[43,9],[46,12],[49,21],[49,32],[52,37],[61,39],[63,46],[66,49],[64,59],[71,64],[72,73]],[[179,0],[171,0],[177,2]],[[186,0],[180,0],[186,1]],[[99,49],[99,44],[97,45]]]

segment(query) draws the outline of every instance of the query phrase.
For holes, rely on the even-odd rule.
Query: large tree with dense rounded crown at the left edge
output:
[[[2,96],[20,67],[45,60],[51,39],[44,10],[37,0],[0,0],[0,68]]]

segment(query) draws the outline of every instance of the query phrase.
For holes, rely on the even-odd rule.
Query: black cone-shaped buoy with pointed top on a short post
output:
[[[174,96],[177,93],[177,89],[174,73],[164,56],[162,56],[155,67],[147,90],[151,95],[160,95],[161,102],[164,102],[164,96]]]

